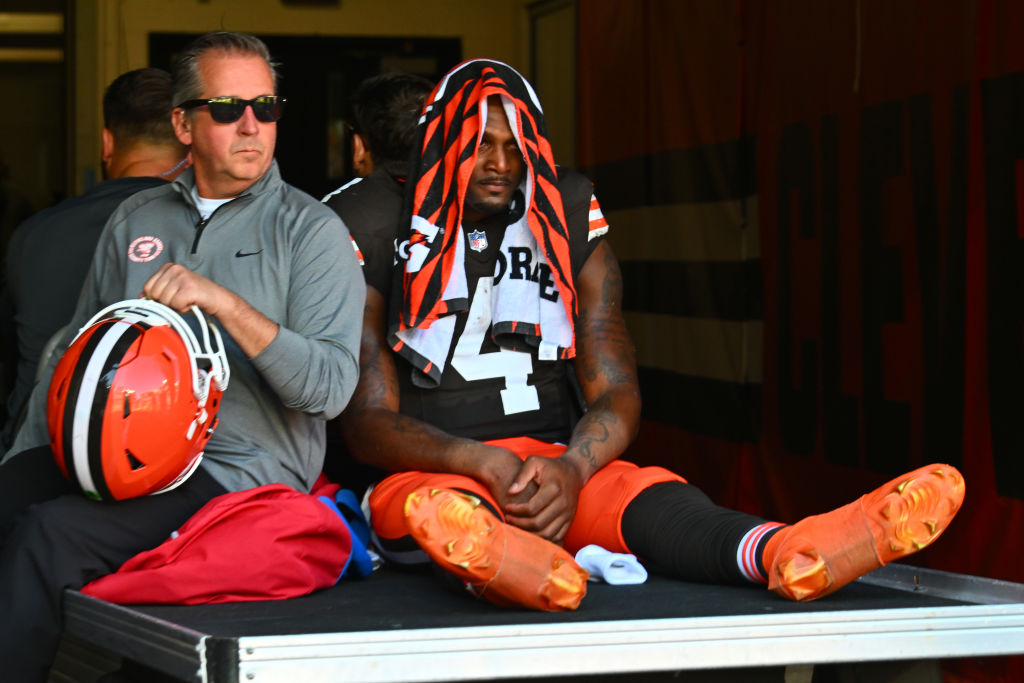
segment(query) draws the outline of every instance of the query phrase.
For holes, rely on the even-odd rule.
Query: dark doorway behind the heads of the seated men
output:
[[[194,35],[152,34],[150,63],[169,69]],[[458,38],[260,36],[281,62],[288,109],[278,129],[286,181],[319,199],[352,177],[348,98],[366,78],[397,70],[437,81],[462,58]]]

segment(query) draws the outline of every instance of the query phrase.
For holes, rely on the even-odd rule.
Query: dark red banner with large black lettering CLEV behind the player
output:
[[[948,462],[965,506],[910,560],[1024,582],[1024,4],[588,0],[579,22],[580,163],[642,366],[630,457],[781,521]],[[699,220],[646,229],[666,207]],[[672,309],[630,298],[668,286]]]

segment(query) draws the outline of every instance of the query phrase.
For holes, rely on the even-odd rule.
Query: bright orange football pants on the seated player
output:
[[[564,445],[525,436],[487,443],[508,449],[522,460],[531,455],[557,458],[565,451]],[[611,552],[632,553],[623,540],[623,514],[640,492],[665,481],[685,482],[686,479],[663,467],[637,467],[622,460],[602,467],[580,492],[575,518],[565,535],[565,549],[575,554],[584,546],[596,544]],[[390,540],[409,536],[402,509],[409,495],[422,486],[467,492],[487,501],[493,509],[500,510],[487,487],[471,477],[436,472],[400,472],[381,481],[370,495],[371,520],[377,536]]]

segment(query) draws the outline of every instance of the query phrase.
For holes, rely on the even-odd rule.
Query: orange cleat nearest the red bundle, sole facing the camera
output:
[[[420,547],[488,601],[546,611],[575,609],[589,573],[564,549],[506,524],[479,499],[450,488],[418,488],[406,524]]]

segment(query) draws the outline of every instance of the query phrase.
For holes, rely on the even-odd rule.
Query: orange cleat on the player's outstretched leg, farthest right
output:
[[[765,547],[768,588],[814,600],[927,547],[964,502],[964,477],[927,465],[823,515],[783,527]]]

